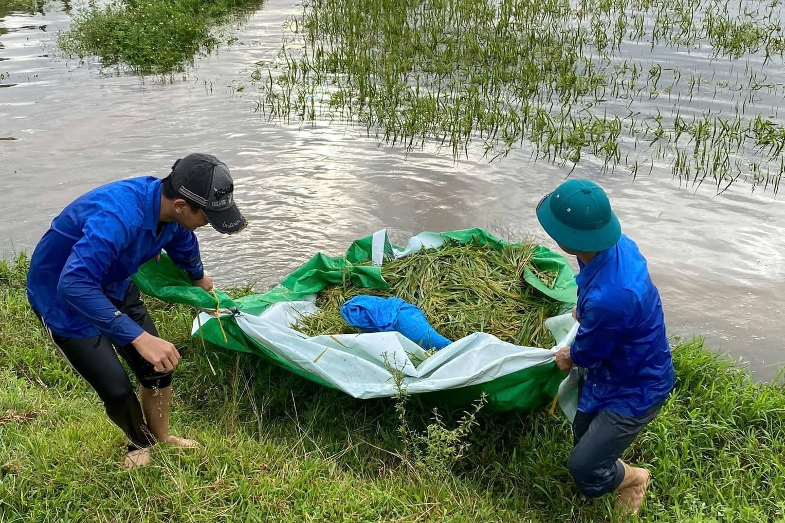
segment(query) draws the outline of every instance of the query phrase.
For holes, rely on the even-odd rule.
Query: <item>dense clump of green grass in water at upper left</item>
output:
[[[231,41],[218,31],[253,13],[263,0],[113,0],[75,15],[58,41],[71,56],[100,57],[104,67],[135,74],[184,71],[194,57]]]

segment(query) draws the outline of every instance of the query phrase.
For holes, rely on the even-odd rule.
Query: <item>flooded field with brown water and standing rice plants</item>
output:
[[[647,256],[671,334],[707,335],[775,375],[780,5],[357,5],[265,2],[232,45],[166,80],[63,57],[68,2],[0,6],[3,253],[31,251],[81,192],[165,175],[193,151],[232,167],[251,220],[237,237],[199,232],[206,267],[260,290],[385,227],[396,240],[479,226],[550,244],[535,204],[590,177]],[[401,30],[367,38],[385,24]]]

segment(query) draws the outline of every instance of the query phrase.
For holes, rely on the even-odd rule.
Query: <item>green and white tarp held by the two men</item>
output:
[[[557,340],[552,349],[517,346],[475,332],[426,357],[422,347],[397,332],[308,337],[290,327],[301,314],[317,310],[316,293],[324,288],[346,280],[359,287],[388,288],[381,271],[386,260],[420,249],[438,249],[448,240],[480,241],[499,248],[506,244],[483,229],[466,229],[422,232],[401,247],[392,244],[382,230],[356,240],[343,257],[314,255],[265,294],[233,300],[216,291],[218,303],[213,294],[194,287],[166,254],[159,262],[143,265],[133,280],[145,294],[201,309],[193,335],[203,335],[226,349],[257,354],[352,397],[394,397],[396,375],[407,393],[421,394],[447,408],[467,406],[484,392],[485,411],[532,410],[550,404],[559,391],[560,406],[571,419],[576,404],[574,379],[565,379],[567,374],[556,367],[554,353],[571,343],[578,329],[571,316],[575,280],[567,260],[546,247],[535,247],[531,263],[540,270],[557,272],[556,283],[547,287],[528,269],[524,280],[564,303],[564,314],[546,322]],[[214,318],[219,314],[220,325]]]

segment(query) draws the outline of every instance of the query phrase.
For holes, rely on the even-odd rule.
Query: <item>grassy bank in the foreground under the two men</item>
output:
[[[609,521],[611,498],[571,485],[559,415],[480,410],[450,443],[460,413],[439,424],[407,404],[409,435],[429,430],[431,443],[407,450],[393,400],[352,400],[203,347],[188,338],[191,311],[159,302],[155,320],[184,355],[173,431],[205,448],[155,448],[154,466],[124,470],[119,430],[27,306],[26,268],[0,263],[2,521]],[[642,517],[785,521],[785,392],[700,342],[674,360],[674,394],[626,455],[652,470]]]

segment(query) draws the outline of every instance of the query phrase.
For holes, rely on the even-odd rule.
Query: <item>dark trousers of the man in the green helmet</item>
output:
[[[584,496],[596,498],[621,485],[624,467],[619,457],[644,426],[655,419],[663,403],[656,404],[640,418],[612,411],[575,413],[572,422],[575,447],[568,461],[568,469]]]

